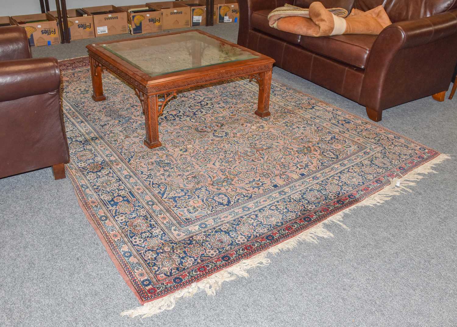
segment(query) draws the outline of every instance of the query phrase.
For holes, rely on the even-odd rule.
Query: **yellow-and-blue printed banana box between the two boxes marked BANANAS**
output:
[[[162,32],[162,11],[150,5],[123,5],[120,6],[127,12],[128,31],[130,34],[143,34],[152,32]],[[130,9],[150,8],[150,11],[138,13],[128,12]]]

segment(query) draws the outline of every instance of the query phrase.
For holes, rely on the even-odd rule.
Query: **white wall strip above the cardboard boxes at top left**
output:
[[[67,9],[95,5],[138,5],[165,0],[67,0]],[[49,0],[49,10],[56,10],[55,0]],[[39,14],[40,0],[0,0],[0,16]]]

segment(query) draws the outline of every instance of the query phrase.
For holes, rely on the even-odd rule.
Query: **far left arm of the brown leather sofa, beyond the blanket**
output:
[[[239,26],[238,44],[246,47],[248,44],[248,31],[250,30],[251,15],[254,11],[275,9],[284,4],[293,5],[294,0],[238,0]]]

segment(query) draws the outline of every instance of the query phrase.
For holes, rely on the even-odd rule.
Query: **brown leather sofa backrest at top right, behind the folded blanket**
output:
[[[456,0],[355,0],[354,8],[367,11],[383,5],[390,20],[410,21],[457,9]]]

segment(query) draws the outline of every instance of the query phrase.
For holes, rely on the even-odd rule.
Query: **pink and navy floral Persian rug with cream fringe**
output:
[[[87,57],[60,62],[81,208],[149,316],[198,290],[268,264],[268,253],[331,236],[357,205],[381,204],[447,158],[273,81],[271,116],[258,86],[233,80],[179,93],[159,118],[161,147],[143,146],[134,91],[103,73],[94,102]]]

